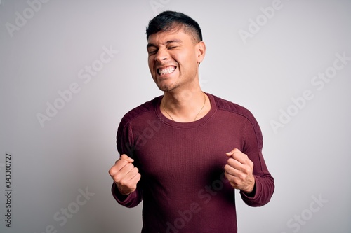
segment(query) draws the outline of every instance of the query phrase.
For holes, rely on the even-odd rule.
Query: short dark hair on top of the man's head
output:
[[[202,41],[202,33],[199,24],[191,17],[176,11],[164,11],[150,20],[146,28],[146,38],[159,31],[171,31],[176,27],[183,27],[189,31],[197,42]]]

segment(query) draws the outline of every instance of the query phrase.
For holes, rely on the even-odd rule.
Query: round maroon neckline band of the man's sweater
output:
[[[157,97],[157,102],[156,102],[156,106],[155,106],[157,118],[159,118],[159,120],[161,120],[161,122],[164,122],[164,124],[166,124],[166,125],[170,125],[170,126],[178,127],[178,128],[193,128],[193,127],[198,127],[199,125],[203,125],[204,122],[206,122],[208,119],[210,119],[213,116],[213,114],[216,113],[216,110],[217,110],[216,101],[215,101],[213,95],[208,94],[206,92],[204,92],[204,93],[208,96],[208,99],[210,100],[211,109],[210,109],[210,111],[208,111],[208,113],[206,115],[204,115],[203,118],[200,118],[200,119],[195,120],[193,122],[176,122],[176,121],[173,121],[171,119],[166,118],[166,116],[163,113],[161,113],[161,100],[164,97],[163,95]]]

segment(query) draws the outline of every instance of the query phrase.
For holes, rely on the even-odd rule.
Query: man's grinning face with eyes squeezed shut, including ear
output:
[[[190,33],[179,28],[152,34],[147,42],[149,69],[160,90],[190,89],[198,82],[199,63],[205,54],[203,42],[195,42]]]

